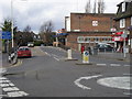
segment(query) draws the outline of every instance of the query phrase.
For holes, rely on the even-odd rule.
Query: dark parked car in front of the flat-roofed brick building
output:
[[[96,48],[98,48],[99,52],[112,52],[112,51],[114,51],[114,47],[112,47],[111,45],[107,45],[107,44],[98,44],[96,46]]]

